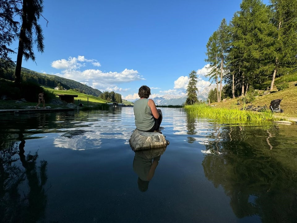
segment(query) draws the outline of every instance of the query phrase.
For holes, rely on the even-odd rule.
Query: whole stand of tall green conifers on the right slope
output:
[[[234,98],[245,95],[249,86],[273,90],[276,77],[297,71],[297,1],[270,3],[243,0],[230,24],[223,19],[209,37],[206,77],[217,84],[218,102],[222,82]]]

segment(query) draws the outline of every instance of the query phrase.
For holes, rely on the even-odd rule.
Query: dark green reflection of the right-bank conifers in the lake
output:
[[[205,155],[202,162],[205,176],[215,187],[224,188],[237,217],[258,215],[262,222],[294,222],[296,170],[266,154],[271,151],[265,140],[267,130],[251,128],[245,129],[245,133],[242,130],[236,126],[229,131],[226,128],[217,138],[218,143],[205,145],[208,150],[220,152]],[[259,140],[255,141],[255,135]],[[232,143],[228,138],[232,138]]]

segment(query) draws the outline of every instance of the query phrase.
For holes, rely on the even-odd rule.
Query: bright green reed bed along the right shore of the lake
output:
[[[273,121],[270,111],[251,112],[238,109],[226,109],[210,107],[206,104],[195,104],[184,106],[185,111],[190,116],[207,117],[210,119],[224,120],[228,122],[266,122]]]

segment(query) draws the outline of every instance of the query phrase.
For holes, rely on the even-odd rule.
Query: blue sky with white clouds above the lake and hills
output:
[[[35,50],[36,63],[23,60],[22,67],[113,90],[126,100],[137,99],[141,85],[151,88],[151,98],[183,96],[192,70],[199,90],[210,84],[206,43],[241,2],[45,0],[49,22],[39,20],[44,53]]]

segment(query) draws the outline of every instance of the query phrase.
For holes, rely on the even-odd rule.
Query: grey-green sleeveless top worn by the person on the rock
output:
[[[135,125],[138,130],[148,131],[155,124],[154,116],[148,105],[148,98],[138,99],[134,102],[133,110],[135,116]]]

